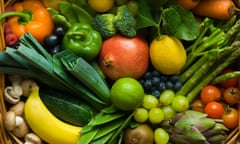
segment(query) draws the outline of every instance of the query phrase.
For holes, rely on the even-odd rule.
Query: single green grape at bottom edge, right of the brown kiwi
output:
[[[155,144],[167,144],[169,141],[169,134],[163,128],[156,128],[154,130]]]

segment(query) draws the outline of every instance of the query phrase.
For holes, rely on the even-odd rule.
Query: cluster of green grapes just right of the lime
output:
[[[185,96],[176,95],[173,90],[166,89],[159,98],[150,94],[144,95],[142,105],[134,110],[133,117],[139,123],[159,124],[188,108],[189,101]]]

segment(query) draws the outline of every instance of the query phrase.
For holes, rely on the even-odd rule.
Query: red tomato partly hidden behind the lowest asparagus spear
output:
[[[227,69],[224,69],[221,72],[221,75],[226,74],[226,73],[230,73],[230,72],[233,72],[233,71],[234,71],[233,69],[227,68]],[[226,81],[223,81],[223,82],[219,83],[219,85],[223,88],[236,87],[237,84],[238,84],[238,79],[237,78],[231,78],[231,79],[228,79]]]

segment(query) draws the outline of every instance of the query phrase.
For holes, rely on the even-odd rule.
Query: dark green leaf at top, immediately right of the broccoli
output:
[[[136,29],[142,29],[149,26],[154,26],[157,23],[154,21],[151,14],[151,7],[149,1],[147,0],[139,0],[139,14],[137,18]]]

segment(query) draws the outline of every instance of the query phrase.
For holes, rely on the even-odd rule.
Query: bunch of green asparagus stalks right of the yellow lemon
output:
[[[216,22],[205,18],[199,37],[186,48],[187,62],[180,73],[183,83],[177,95],[192,102],[203,86],[237,77],[239,72],[217,78],[221,71],[240,57],[240,19]],[[216,79],[216,80],[215,80]]]

